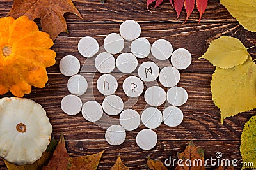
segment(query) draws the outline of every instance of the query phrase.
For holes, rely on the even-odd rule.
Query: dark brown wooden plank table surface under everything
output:
[[[1,17],[6,16],[10,11],[12,3],[12,0],[0,1]],[[153,13],[147,11],[146,0],[107,0],[104,5],[96,0],[74,0],[74,4],[84,20],[80,20],[76,15],[65,15],[70,34],[61,33],[55,41],[52,49],[57,53],[56,64],[47,69],[49,82],[44,89],[33,88],[31,94],[24,96],[42,104],[53,126],[55,138],[60,139],[60,132],[65,134],[70,156],[88,155],[106,149],[100,160],[99,169],[110,169],[118,153],[122,156],[124,164],[131,169],[146,169],[144,165],[147,156],[162,161],[169,156],[177,159],[177,152],[183,152],[189,141],[193,140],[196,146],[204,148],[205,159],[215,158],[215,153],[221,152],[223,159],[241,160],[239,152],[241,132],[248,118],[255,114],[255,110],[227,118],[221,125],[220,111],[211,99],[210,81],[214,66],[207,60],[197,58],[204,54],[212,40],[222,35],[239,38],[246,47],[250,47],[256,44],[255,33],[246,31],[232,18],[220,1],[216,0],[209,0],[200,24],[198,24],[197,10],[193,11],[185,24],[182,24],[186,18],[185,10],[182,10],[179,20],[176,20],[175,10],[166,0],[158,8],[150,6]],[[140,23],[141,36],[147,38],[150,43],[156,39],[166,39],[172,43],[173,48],[187,48],[193,56],[191,66],[181,71],[179,83],[180,87],[188,91],[188,102],[180,107],[184,113],[184,121],[178,127],[167,127],[162,124],[155,129],[159,139],[156,147],[150,151],[141,150],[136,145],[136,134],[144,129],[144,126],[127,132],[127,138],[122,145],[110,146],[104,139],[104,129],[84,120],[81,113],[68,116],[60,108],[61,99],[69,94],[68,78],[58,69],[61,58],[65,55],[75,55],[83,64],[85,58],[77,51],[79,39],[83,36],[93,36],[101,46],[106,35],[118,32],[120,24],[128,19]],[[255,58],[255,49],[251,49],[250,53]],[[143,59],[139,62],[143,62]],[[92,73],[87,74],[90,77]],[[99,73],[95,74],[94,85],[99,75]],[[124,78],[118,80],[117,94],[126,99],[122,91],[123,80]],[[104,96],[97,90],[93,92],[95,99],[101,103]],[[12,94],[6,94],[1,97],[11,96]],[[138,104],[133,108],[140,112],[144,105],[145,101],[140,97]],[[163,110],[163,106],[159,109]],[[169,168],[174,169],[174,167]],[[0,162],[0,169],[6,169],[3,161]]]

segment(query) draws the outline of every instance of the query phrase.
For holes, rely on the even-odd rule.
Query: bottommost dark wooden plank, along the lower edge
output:
[[[106,149],[100,160],[98,168],[100,170],[109,170],[115,163],[118,153],[120,153],[124,164],[131,169],[147,169],[145,166],[147,156],[150,156],[152,159],[159,159],[162,162],[169,159],[169,157],[172,157],[172,160],[177,159],[177,152],[183,152],[188,143],[189,140],[158,141],[155,148],[145,151],[138,148],[135,141],[125,141],[120,146],[110,146],[104,141],[66,141],[67,151],[71,157],[90,155]],[[196,146],[200,146],[200,148],[205,150],[204,160],[211,159],[211,157],[212,159],[216,159],[215,153],[221,152],[223,153],[223,157],[221,157],[220,161],[222,159],[230,159],[231,161],[237,159],[239,163],[241,162],[239,141],[194,141],[194,143]],[[175,166],[170,166],[169,169],[174,169]],[[207,169],[211,169],[214,166],[211,166],[209,163],[206,167]],[[0,169],[5,169],[2,160],[0,161]],[[236,169],[241,169],[241,167],[236,167]]]

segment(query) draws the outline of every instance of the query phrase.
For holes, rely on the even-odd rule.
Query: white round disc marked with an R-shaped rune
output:
[[[143,82],[136,76],[129,76],[123,82],[123,90],[129,97],[138,97],[144,90]]]

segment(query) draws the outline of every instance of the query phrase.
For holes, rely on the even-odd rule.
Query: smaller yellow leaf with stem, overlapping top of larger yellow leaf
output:
[[[207,52],[200,58],[207,59],[212,65],[222,69],[243,64],[249,53],[237,38],[221,36],[212,41]]]

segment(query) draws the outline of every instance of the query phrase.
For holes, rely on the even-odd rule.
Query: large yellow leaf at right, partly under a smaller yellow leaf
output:
[[[227,117],[256,108],[256,65],[252,58],[231,69],[216,68],[211,80],[212,100]]]

